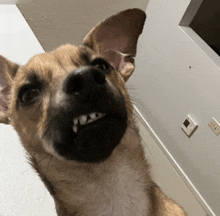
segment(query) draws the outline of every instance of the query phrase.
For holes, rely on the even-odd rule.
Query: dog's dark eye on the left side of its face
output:
[[[37,96],[40,94],[40,89],[31,85],[23,86],[19,91],[19,101],[23,104],[34,102]]]

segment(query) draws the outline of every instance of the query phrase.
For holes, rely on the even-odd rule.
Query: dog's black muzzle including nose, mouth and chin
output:
[[[98,163],[119,144],[127,128],[127,111],[123,95],[106,78],[109,73],[85,66],[62,81],[57,91],[61,99],[48,110],[45,133],[60,156]]]

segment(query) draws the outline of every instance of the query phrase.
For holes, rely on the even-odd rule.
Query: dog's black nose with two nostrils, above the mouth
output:
[[[103,72],[92,67],[82,67],[71,72],[63,83],[63,91],[67,94],[80,93],[84,90],[104,85],[106,82]]]

